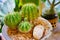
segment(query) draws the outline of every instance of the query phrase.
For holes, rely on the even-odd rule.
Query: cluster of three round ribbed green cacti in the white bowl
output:
[[[33,27],[33,24],[29,21],[35,20],[39,16],[37,6],[33,3],[25,4],[23,5],[20,13],[13,12],[6,15],[4,22],[11,29],[17,28],[18,31],[27,33],[31,31]]]

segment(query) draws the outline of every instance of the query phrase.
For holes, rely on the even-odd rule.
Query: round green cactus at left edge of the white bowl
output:
[[[20,21],[21,15],[18,12],[10,13],[4,18],[4,23],[11,29],[16,29]]]

